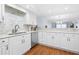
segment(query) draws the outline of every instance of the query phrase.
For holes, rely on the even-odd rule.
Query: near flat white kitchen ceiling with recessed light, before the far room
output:
[[[25,5],[22,4],[22,6]],[[39,16],[53,16],[68,13],[78,13],[79,4],[26,4],[26,8]]]

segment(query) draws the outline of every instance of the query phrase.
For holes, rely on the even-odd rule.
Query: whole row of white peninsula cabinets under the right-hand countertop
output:
[[[79,53],[79,34],[58,32],[40,32],[39,34],[39,43]]]

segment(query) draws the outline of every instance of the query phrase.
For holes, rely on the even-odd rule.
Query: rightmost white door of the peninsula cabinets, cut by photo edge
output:
[[[69,50],[79,52],[79,34],[69,34]]]

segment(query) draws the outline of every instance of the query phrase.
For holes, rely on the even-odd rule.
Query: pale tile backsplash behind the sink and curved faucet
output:
[[[11,13],[5,13],[5,20],[0,24],[0,34],[11,33],[16,24],[20,26],[19,31],[24,31],[23,24],[25,18]]]

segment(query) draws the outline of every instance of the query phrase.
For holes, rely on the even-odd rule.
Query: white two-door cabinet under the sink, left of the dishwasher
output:
[[[31,38],[31,37],[30,37]],[[15,36],[9,39],[11,55],[21,55],[31,48],[31,39],[27,35]]]

